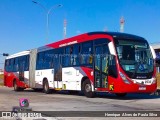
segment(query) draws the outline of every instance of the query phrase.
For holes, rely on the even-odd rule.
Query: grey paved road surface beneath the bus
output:
[[[31,89],[15,92],[13,88],[7,87],[0,87],[0,111],[11,111],[13,106],[19,106],[20,98],[29,99],[33,111],[160,111],[158,95],[128,94],[124,98],[118,98],[112,94],[97,94],[95,98],[86,98],[68,92],[44,94]],[[147,119],[151,118],[145,118]]]

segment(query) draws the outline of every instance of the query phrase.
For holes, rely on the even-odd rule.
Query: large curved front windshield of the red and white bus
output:
[[[128,76],[148,78],[154,62],[148,43],[145,40],[116,40],[115,44],[119,63]]]

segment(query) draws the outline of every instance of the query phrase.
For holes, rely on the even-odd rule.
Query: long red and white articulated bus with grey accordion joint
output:
[[[139,36],[90,32],[6,57],[4,85],[117,96],[156,91],[155,54]]]

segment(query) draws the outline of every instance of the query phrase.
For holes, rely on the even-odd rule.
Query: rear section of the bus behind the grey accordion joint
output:
[[[4,85],[14,87],[15,91],[29,87],[29,53],[23,51],[6,57]]]

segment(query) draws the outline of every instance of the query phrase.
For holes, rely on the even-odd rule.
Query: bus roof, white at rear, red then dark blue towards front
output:
[[[60,40],[60,41],[56,41],[56,42],[50,43],[46,46],[38,47],[37,50],[38,50],[38,52],[41,52],[41,51],[45,51],[45,50],[50,50],[50,49],[54,49],[54,48],[59,48],[59,47],[63,47],[63,46],[68,46],[68,45],[88,41],[88,40],[90,40],[88,38],[90,36],[93,37],[94,35],[99,35],[101,37],[108,36],[111,39],[112,38],[117,38],[117,39],[145,40],[144,38],[133,35],[133,34],[120,33],[120,32],[101,32],[101,31],[97,31],[97,32],[88,32],[88,33],[73,36],[73,37],[70,37],[70,38],[67,38],[67,39],[63,39],[63,40]],[[26,51],[22,51],[22,52],[10,55],[10,56],[6,57],[6,59],[15,58],[15,57],[23,56],[23,55],[28,55],[28,54],[30,54],[30,50],[26,50]]]

